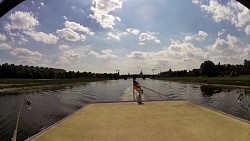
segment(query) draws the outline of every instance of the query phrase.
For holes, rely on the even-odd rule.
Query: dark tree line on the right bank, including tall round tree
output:
[[[223,64],[220,62],[216,65],[212,61],[207,60],[201,63],[199,69],[193,70],[177,70],[161,72],[159,74],[160,77],[187,77],[187,76],[206,76],[206,77],[216,77],[216,76],[225,76],[229,75],[232,77],[236,77],[239,75],[247,75],[250,74],[250,60],[244,60],[243,64]]]

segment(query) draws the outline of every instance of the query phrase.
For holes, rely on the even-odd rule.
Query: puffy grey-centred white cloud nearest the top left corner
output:
[[[16,11],[14,14],[11,14],[8,19],[10,22],[7,22],[4,26],[6,31],[14,29],[33,30],[39,25],[38,20],[34,17],[32,12]]]

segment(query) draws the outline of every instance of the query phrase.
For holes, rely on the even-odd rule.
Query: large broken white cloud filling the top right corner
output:
[[[214,21],[229,21],[236,28],[241,29],[250,23],[250,10],[235,0],[230,0],[226,5],[217,0],[198,1],[193,0],[201,9],[212,15]]]

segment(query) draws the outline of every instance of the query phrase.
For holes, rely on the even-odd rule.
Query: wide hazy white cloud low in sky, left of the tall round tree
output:
[[[200,63],[204,60],[204,52],[201,48],[195,47],[192,43],[172,40],[169,47],[158,52],[140,52],[133,51],[128,58],[137,59],[137,64],[134,67],[142,67],[142,69],[148,66],[154,68],[164,67],[173,69],[193,69],[198,68]],[[187,63],[188,61],[188,63]],[[146,66],[140,65],[146,64]]]

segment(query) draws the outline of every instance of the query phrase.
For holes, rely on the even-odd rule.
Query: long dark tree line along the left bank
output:
[[[73,79],[73,78],[114,78],[119,73],[91,73],[74,72],[58,68],[34,67],[28,65],[2,64],[0,65],[0,78],[25,78],[25,79]]]

